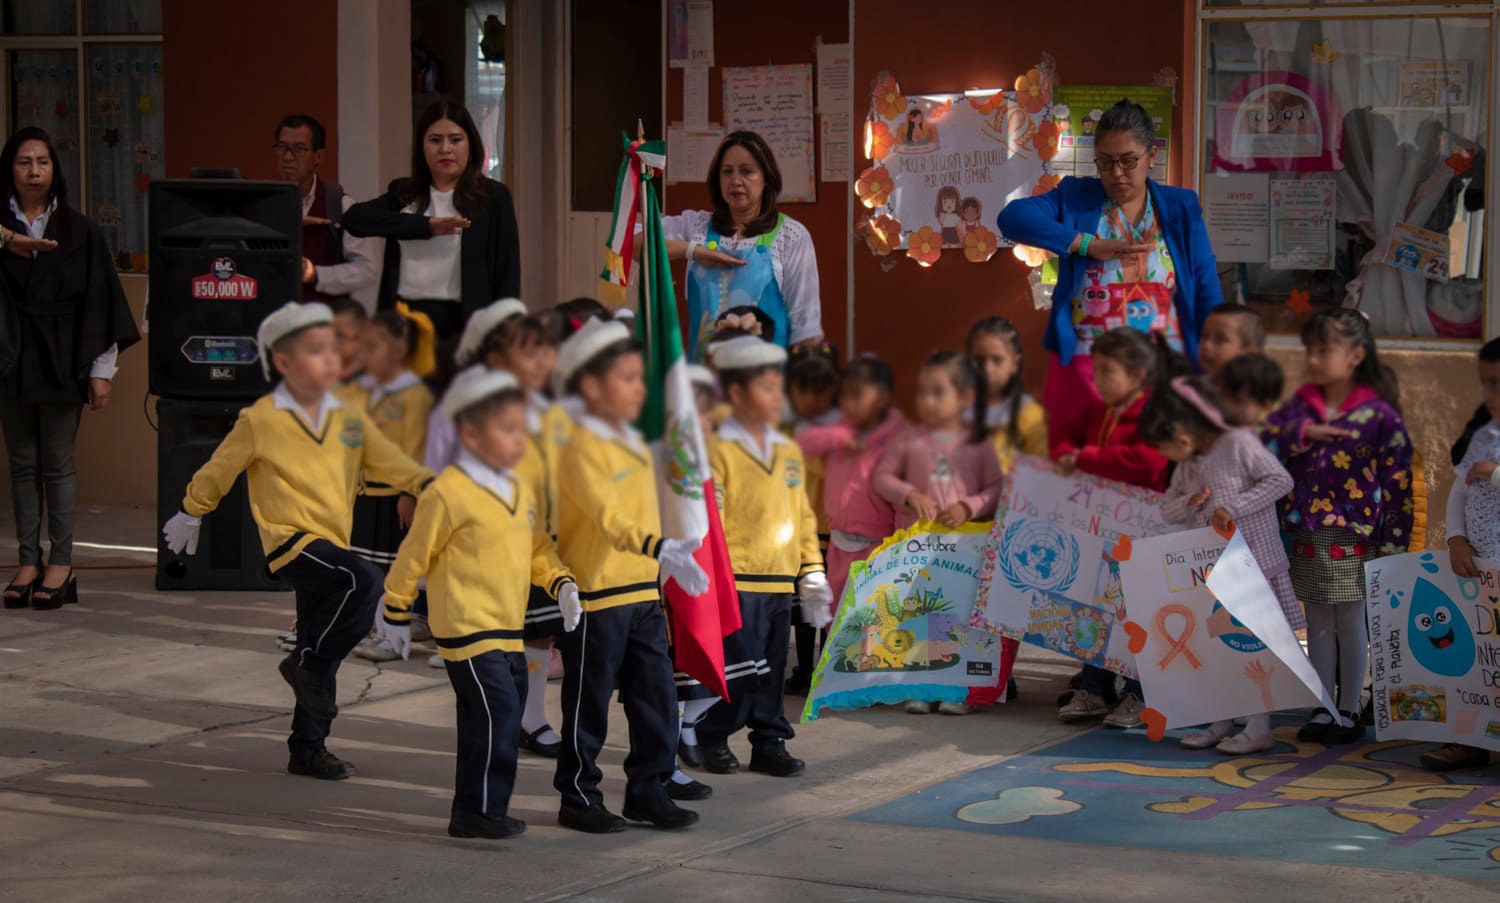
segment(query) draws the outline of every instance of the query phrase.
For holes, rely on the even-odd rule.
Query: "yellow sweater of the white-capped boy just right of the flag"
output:
[[[766,465],[738,441],[716,435],[708,464],[735,590],[794,594],[802,574],[824,570],[818,518],[802,486],[807,466],[796,442],[772,442]]]

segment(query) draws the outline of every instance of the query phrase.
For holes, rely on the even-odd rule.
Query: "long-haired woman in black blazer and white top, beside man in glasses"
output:
[[[386,238],[376,306],[426,314],[438,338],[470,314],[520,294],[520,238],[510,189],[484,177],[484,144],[462,104],[438,100],[417,122],[411,177],[344,213],[356,237]]]

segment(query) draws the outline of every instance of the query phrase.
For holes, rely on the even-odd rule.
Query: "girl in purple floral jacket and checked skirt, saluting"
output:
[[[1395,375],[1376,357],[1370,322],[1347,308],[1302,327],[1308,382],[1264,426],[1266,447],[1296,482],[1281,502],[1292,536],[1292,585],[1306,606],[1308,657],[1332,692],[1340,723],[1318,711],[1305,742],[1353,742],[1365,684],[1365,562],[1412,542],[1412,438]],[[1336,675],[1335,675],[1336,670]]]

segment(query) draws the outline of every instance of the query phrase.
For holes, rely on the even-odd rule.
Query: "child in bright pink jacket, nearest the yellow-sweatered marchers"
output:
[[[878,357],[856,358],[838,388],[843,420],[796,434],[802,454],[824,465],[824,507],[828,512],[828,588],[834,612],[843,600],[849,566],[864,561],[874,546],[896,531],[896,513],[874,492],[874,468],[886,447],[906,428],[891,410],[896,380]]]

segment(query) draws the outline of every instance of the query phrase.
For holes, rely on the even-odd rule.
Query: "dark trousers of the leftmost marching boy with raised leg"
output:
[[[297,596],[297,648],[302,668],[332,681],[344,658],[375,624],[384,574],[378,567],[327,540],[314,540],[278,572]],[[292,710],[286,746],[315,750],[333,729],[330,718],[315,718],[300,705]]]

